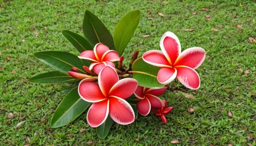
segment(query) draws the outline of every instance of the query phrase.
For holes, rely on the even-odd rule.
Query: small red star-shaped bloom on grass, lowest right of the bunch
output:
[[[166,100],[163,100],[163,102],[165,103],[164,106],[162,106],[162,108],[158,108],[158,109],[153,109],[153,112],[155,113],[155,115],[157,116],[160,116],[163,123],[167,123],[167,120],[166,120],[166,117],[165,117],[165,114],[168,114],[172,111],[173,107],[168,107],[167,108],[167,102]]]

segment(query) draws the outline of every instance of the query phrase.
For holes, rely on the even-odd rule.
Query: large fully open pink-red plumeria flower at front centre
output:
[[[137,80],[124,78],[119,80],[118,74],[111,66],[105,66],[100,72],[98,83],[91,78],[82,80],[78,87],[79,96],[93,104],[88,109],[87,122],[91,127],[98,127],[108,117],[121,125],[132,123],[135,114],[126,100],[138,86]]]

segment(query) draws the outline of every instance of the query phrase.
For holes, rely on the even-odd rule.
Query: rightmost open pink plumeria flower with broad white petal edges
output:
[[[198,89],[200,78],[194,70],[205,58],[205,50],[191,47],[181,53],[180,41],[172,32],[163,34],[160,40],[161,50],[149,50],[143,54],[146,63],[158,66],[157,80],[166,85],[177,78],[180,83],[190,89]]]

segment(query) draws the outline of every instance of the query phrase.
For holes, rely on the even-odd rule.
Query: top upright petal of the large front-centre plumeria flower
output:
[[[104,96],[108,96],[108,92],[112,86],[118,82],[118,80],[118,74],[116,73],[115,69],[110,66],[105,66],[105,68],[99,72],[99,88],[101,89],[101,92],[104,94]]]

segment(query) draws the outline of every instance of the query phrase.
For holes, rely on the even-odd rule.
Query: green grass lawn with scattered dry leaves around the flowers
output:
[[[171,145],[173,140],[180,142],[177,145],[255,145],[256,100],[252,94],[256,94],[256,45],[248,39],[256,37],[254,1],[49,0],[0,4],[1,145]],[[203,11],[204,7],[209,10]],[[126,58],[137,49],[140,56],[146,50],[160,49],[159,40],[166,31],[176,33],[182,50],[200,46],[207,51],[207,58],[197,69],[201,88],[187,92],[196,98],[180,99],[180,91],[169,91],[162,96],[169,106],[174,106],[167,116],[167,125],[154,114],[138,116],[130,125],[113,125],[106,139],[98,139],[84,113],[65,127],[50,127],[52,114],[65,96],[60,90],[66,85],[27,82],[34,75],[52,70],[32,53],[64,50],[78,55],[60,30],[82,34],[87,9],[111,33],[121,16],[134,9],[141,10],[138,29],[124,52]],[[193,15],[194,12],[197,14]],[[205,19],[207,15],[210,21]],[[151,36],[143,38],[143,35]],[[246,70],[248,74],[244,74]],[[180,83],[173,83],[183,88]],[[189,107],[195,108],[194,114],[187,112]],[[227,116],[228,111],[232,118]],[[14,114],[12,119],[7,119],[9,113]],[[82,128],[85,133],[80,133]],[[135,141],[137,138],[140,141]]]

